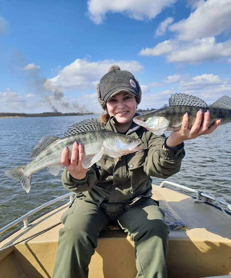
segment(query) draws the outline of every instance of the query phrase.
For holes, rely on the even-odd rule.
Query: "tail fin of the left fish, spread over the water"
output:
[[[23,170],[25,167],[26,165],[8,169],[5,171],[5,175],[7,175],[10,178],[14,178],[15,180],[19,180],[21,182],[23,189],[25,189],[26,192],[28,193],[31,188],[31,176],[24,175]]]

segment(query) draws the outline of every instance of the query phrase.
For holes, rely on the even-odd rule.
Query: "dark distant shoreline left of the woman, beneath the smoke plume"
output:
[[[94,114],[94,113],[61,113],[61,112],[44,112],[44,113],[37,113],[37,114],[0,113],[0,119],[29,118],[29,117],[84,116],[84,115],[97,115],[97,114]]]

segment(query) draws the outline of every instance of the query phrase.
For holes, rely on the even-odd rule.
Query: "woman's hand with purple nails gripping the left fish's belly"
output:
[[[77,179],[82,180],[86,177],[87,169],[82,166],[84,158],[83,145],[78,144],[77,141],[73,144],[71,160],[68,159],[68,147],[65,147],[61,155],[61,163],[65,166],[70,175]]]

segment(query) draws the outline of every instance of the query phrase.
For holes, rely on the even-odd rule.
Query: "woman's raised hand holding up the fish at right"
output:
[[[169,147],[176,147],[185,140],[194,139],[200,135],[209,134],[217,128],[221,123],[221,120],[216,120],[215,123],[209,126],[209,110],[204,113],[204,120],[201,125],[202,120],[202,110],[200,109],[196,114],[196,120],[191,128],[188,128],[188,113],[185,113],[182,120],[181,129],[177,131],[172,131],[169,135],[166,144]]]

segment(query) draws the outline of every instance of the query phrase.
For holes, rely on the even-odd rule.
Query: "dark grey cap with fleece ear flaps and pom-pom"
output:
[[[120,92],[126,92],[136,98],[137,104],[141,102],[141,88],[138,80],[129,71],[121,70],[119,66],[110,66],[108,73],[96,86],[99,103],[106,110],[107,100]]]

